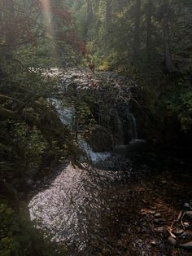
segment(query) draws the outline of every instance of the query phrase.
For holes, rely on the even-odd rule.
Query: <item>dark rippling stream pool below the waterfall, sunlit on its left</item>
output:
[[[79,82],[76,74],[73,78]],[[81,141],[92,165],[60,166],[33,193],[28,209],[35,227],[66,245],[70,256],[191,255],[168,243],[166,234],[192,199],[190,157],[180,149],[135,150],[144,141],[137,139],[132,120],[135,136],[129,145],[94,152]],[[191,222],[184,221],[191,230]],[[184,241],[178,238],[179,244]]]

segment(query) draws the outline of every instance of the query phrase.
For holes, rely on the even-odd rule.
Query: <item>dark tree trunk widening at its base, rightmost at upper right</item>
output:
[[[169,19],[168,19],[168,0],[164,0],[164,65],[166,72],[173,69],[172,57],[169,46]]]

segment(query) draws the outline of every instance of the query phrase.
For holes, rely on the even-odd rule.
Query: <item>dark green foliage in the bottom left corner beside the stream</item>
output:
[[[59,256],[65,255],[63,246],[50,242],[19,214],[0,200],[0,255],[2,256]]]

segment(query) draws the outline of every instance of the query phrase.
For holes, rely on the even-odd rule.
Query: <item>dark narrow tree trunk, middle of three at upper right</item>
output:
[[[148,64],[151,63],[151,20],[152,20],[152,0],[147,3],[147,14],[146,14],[146,57]]]

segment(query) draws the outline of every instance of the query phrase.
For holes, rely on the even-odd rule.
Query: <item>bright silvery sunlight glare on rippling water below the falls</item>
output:
[[[75,255],[90,255],[94,243],[110,246],[103,221],[104,214],[111,214],[109,203],[115,199],[112,188],[118,177],[116,171],[80,170],[69,165],[30,201],[31,219],[56,241],[66,242]]]

